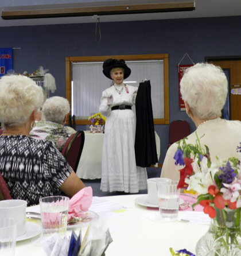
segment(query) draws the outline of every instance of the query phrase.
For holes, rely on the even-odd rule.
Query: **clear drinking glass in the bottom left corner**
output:
[[[17,220],[0,218],[0,255],[14,256],[17,237]]]

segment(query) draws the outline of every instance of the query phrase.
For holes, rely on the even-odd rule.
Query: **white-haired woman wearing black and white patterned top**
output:
[[[39,203],[45,196],[72,197],[84,183],[51,142],[29,137],[41,111],[42,88],[25,76],[0,79],[0,172],[11,197]]]

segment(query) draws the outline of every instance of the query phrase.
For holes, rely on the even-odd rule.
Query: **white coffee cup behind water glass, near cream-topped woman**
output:
[[[147,179],[147,202],[152,205],[159,205],[159,199],[157,194],[157,183],[161,181],[170,181],[170,179],[166,178],[151,178]]]

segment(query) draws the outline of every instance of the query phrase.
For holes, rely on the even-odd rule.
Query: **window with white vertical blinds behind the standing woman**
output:
[[[164,61],[126,61],[131,75],[124,80],[130,86],[139,87],[144,79],[150,79],[151,101],[154,119],[164,119]],[[88,119],[99,112],[102,92],[111,85],[111,80],[103,75],[103,61],[72,62],[71,103],[72,115],[76,119]]]

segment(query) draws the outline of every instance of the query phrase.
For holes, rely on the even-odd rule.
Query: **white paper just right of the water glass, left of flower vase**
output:
[[[180,222],[187,222],[192,224],[210,224],[210,217],[204,212],[184,212],[181,216],[178,216]]]

